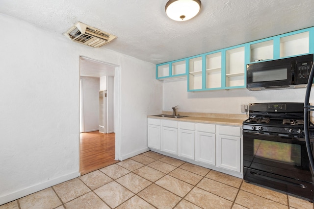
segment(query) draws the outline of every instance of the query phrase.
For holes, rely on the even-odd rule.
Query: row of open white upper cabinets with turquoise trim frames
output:
[[[314,53],[314,27],[156,65],[156,79],[187,77],[187,91],[246,88],[246,65]]]

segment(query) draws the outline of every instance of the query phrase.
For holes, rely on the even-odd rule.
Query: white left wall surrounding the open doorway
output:
[[[116,157],[147,150],[146,116],[162,109],[155,65],[2,14],[0,25],[10,31],[0,43],[0,205],[79,175],[79,56],[119,66]]]

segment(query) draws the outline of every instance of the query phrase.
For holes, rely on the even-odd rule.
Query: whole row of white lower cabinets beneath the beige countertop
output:
[[[242,173],[241,136],[240,126],[148,118],[148,147],[235,176]]]

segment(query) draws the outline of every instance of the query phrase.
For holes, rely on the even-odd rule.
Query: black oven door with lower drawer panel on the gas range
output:
[[[313,141],[311,142],[313,147]],[[314,181],[303,138],[243,130],[243,179],[310,201]]]

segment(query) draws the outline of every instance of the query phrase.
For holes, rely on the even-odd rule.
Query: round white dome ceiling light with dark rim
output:
[[[195,17],[201,9],[201,0],[169,0],[165,10],[175,21],[187,21]]]

